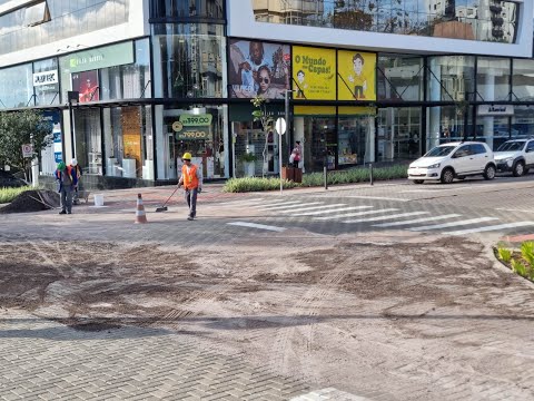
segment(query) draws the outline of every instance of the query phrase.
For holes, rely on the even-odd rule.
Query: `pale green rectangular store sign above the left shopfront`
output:
[[[70,72],[81,72],[134,62],[134,45],[125,42],[79,51],[69,56]]]

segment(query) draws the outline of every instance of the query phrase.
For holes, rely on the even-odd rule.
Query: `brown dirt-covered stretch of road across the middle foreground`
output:
[[[284,233],[227,245],[0,236],[0,306],[139,325],[398,400],[534,397],[530,284],[464,238]]]

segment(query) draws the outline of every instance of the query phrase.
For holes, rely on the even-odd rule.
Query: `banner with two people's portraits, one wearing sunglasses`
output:
[[[284,99],[290,87],[290,47],[230,39],[229,94],[234,98]]]

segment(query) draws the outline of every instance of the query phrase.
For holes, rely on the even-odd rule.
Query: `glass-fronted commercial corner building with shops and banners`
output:
[[[0,110],[38,108],[88,185],[415,158],[534,133],[533,4],[494,0],[0,0]],[[255,121],[255,96],[280,137]],[[72,96],[76,96],[72,97]],[[288,107],[286,106],[286,100]],[[287,157],[286,157],[287,155]],[[287,159],[283,160],[284,164]]]

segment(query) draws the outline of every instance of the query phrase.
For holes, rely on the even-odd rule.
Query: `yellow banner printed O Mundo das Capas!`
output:
[[[293,47],[295,99],[336,100],[336,50]]]

